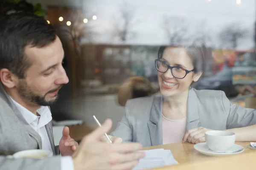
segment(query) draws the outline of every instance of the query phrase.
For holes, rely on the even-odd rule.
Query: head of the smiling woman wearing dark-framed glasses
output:
[[[191,83],[198,81],[204,68],[202,51],[200,46],[160,47],[155,64],[163,95],[186,93]]]

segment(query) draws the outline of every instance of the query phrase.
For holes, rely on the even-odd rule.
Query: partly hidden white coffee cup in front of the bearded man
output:
[[[20,152],[16,152],[12,155],[13,158],[34,158],[34,159],[42,159],[45,157],[52,156],[52,152],[49,150],[41,150],[41,149],[34,149],[34,150],[23,150]]]

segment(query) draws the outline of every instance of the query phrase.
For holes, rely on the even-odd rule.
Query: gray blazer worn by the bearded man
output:
[[[52,122],[45,125],[54,155],[58,155],[55,147]],[[26,122],[0,82],[0,170],[60,170],[61,157],[46,159],[9,159],[21,150],[42,149],[40,135]]]

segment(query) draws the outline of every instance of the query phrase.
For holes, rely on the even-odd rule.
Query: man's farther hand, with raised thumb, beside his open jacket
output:
[[[59,150],[62,156],[71,156],[78,147],[78,143],[70,138],[69,128],[65,126],[62,131],[62,138],[59,142]]]

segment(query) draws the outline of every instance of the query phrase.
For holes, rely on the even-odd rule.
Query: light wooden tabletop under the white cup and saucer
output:
[[[229,156],[206,156],[194,149],[194,144],[175,143],[143,150],[163,148],[171,150],[177,165],[156,168],[157,170],[256,170],[256,150],[248,148],[249,142],[237,142],[244,147],[244,152]]]

